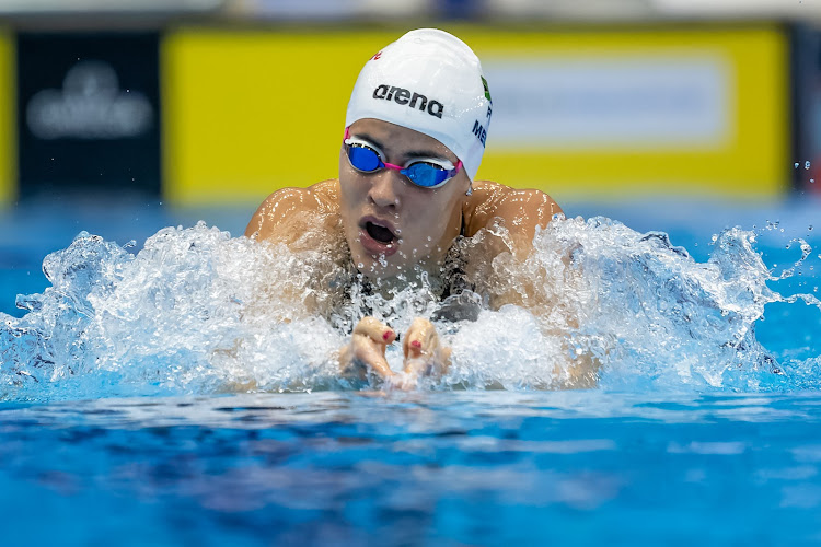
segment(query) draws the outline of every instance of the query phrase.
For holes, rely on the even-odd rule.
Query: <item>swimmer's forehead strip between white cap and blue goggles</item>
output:
[[[359,119],[350,125],[350,135],[369,138],[388,155],[429,155],[455,163],[456,156],[437,139],[380,119]]]

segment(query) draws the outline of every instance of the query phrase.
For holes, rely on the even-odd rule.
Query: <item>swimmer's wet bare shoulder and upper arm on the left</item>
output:
[[[327,229],[338,214],[338,181],[324,181],[308,188],[282,188],[262,202],[251,218],[245,236],[289,247],[307,231]],[[311,225],[312,219],[320,225]]]

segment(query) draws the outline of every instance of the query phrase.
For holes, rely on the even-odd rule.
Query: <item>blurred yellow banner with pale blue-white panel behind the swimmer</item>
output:
[[[356,77],[407,30],[169,33],[166,198],[259,200],[335,177]],[[760,199],[788,186],[788,48],[779,26],[444,30],[479,56],[494,98],[479,178],[559,200]]]

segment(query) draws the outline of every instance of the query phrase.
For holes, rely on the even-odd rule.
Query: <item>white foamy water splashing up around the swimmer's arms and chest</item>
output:
[[[478,253],[486,237],[460,245]],[[453,364],[427,387],[819,388],[818,357],[778,362],[754,333],[768,303],[821,307],[766,284],[811,249],[798,242],[802,257],[774,277],[754,243],[726,230],[698,263],[664,233],[557,219],[524,261],[501,253],[469,274],[496,310],[438,324]],[[28,313],[0,315],[0,399],[345,387],[336,351],[362,309],[404,331],[436,299],[423,282],[389,296],[355,287],[340,303],[338,263],[329,246],[296,255],[204,223],[161,230],[136,255],[81,233],[45,258],[51,287],[18,298]],[[398,344],[388,360],[401,368]]]

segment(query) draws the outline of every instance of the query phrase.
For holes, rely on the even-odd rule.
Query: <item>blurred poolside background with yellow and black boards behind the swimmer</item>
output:
[[[639,203],[647,230],[821,195],[821,0],[0,0],[0,22],[7,313],[81,230],[240,235],[335,177],[359,69],[421,26],[482,59],[479,178],[571,214]]]

